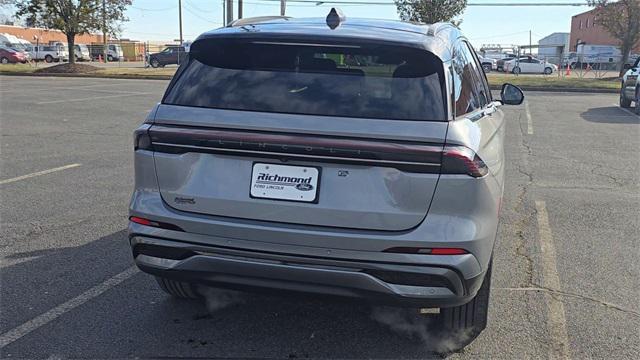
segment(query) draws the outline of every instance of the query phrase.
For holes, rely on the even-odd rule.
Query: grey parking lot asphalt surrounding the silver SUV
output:
[[[173,300],[132,268],[132,131],[166,81],[0,77],[0,357],[431,358],[394,309]],[[640,117],[613,94],[507,115],[489,326],[452,359],[640,358]]]

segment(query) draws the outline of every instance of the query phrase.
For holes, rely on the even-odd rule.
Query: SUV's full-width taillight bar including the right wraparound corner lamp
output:
[[[225,153],[320,162],[394,167],[403,171],[482,177],[486,164],[471,149],[345,137],[275,134],[215,128],[143,125],[134,133],[136,150],[168,153]]]

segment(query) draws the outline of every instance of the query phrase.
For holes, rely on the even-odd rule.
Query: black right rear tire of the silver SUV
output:
[[[453,340],[460,349],[469,345],[487,327],[492,262],[473,300],[464,305],[440,309],[440,336]]]

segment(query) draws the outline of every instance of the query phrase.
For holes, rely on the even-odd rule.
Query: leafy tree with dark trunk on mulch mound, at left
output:
[[[75,62],[75,37],[103,29],[113,34],[126,21],[131,0],[17,0],[16,15],[31,26],[57,29],[67,36],[69,62]],[[104,7],[103,7],[104,6]]]

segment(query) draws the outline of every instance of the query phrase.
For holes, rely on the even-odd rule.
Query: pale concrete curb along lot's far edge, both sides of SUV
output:
[[[34,76],[34,77],[76,77],[95,79],[127,79],[127,80],[171,80],[172,75],[125,75],[125,74],[66,74],[66,73],[18,73],[0,72],[3,76]],[[516,85],[518,86],[518,85]],[[618,89],[606,88],[565,88],[565,87],[542,87],[542,86],[518,86],[523,91],[545,91],[545,92],[568,92],[568,93],[589,93],[589,94],[617,94]],[[502,85],[490,85],[491,90],[501,90]]]

